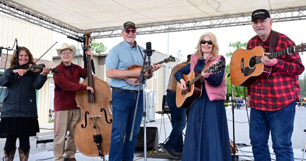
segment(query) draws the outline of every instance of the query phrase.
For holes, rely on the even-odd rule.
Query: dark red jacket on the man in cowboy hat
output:
[[[77,91],[85,91],[87,86],[80,84],[80,78],[87,77],[87,69],[71,63],[72,71],[61,62],[54,79],[54,111],[76,109]]]

